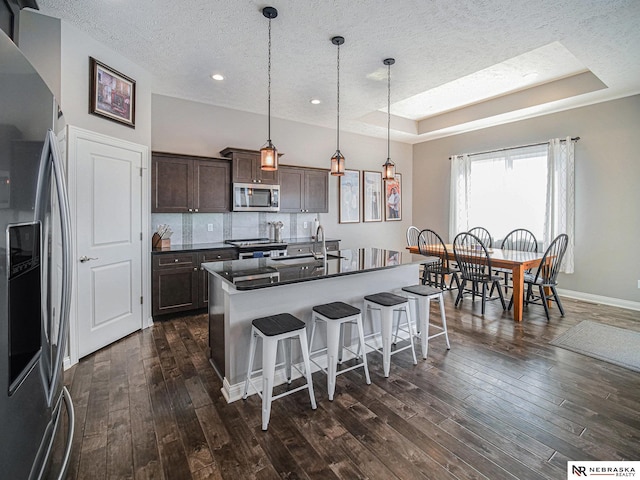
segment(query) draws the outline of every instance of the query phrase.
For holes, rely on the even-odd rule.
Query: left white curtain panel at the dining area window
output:
[[[469,230],[470,186],[469,155],[454,155],[451,157],[451,188],[449,189],[449,242],[453,242],[458,233]]]

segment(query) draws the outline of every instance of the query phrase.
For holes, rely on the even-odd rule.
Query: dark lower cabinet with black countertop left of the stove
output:
[[[209,301],[209,277],[200,265],[236,258],[238,256],[234,248],[154,253],[151,314],[164,315],[206,307]]]

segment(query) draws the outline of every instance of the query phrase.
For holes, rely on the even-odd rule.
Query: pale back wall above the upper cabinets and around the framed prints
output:
[[[162,95],[152,96],[152,138],[155,151],[219,157],[225,147],[258,150],[267,138],[267,117],[214,107]],[[271,119],[271,138],[284,155],[281,163],[328,168],[335,152],[335,130]],[[340,150],[347,169],[382,171],[387,157],[386,139],[340,133]],[[402,221],[338,223],[338,179],[330,178],[329,213],[320,221],[327,237],[338,238],[344,248],[377,246],[403,249],[411,224],[411,145],[392,142],[391,158],[403,174]],[[194,214],[197,215],[197,214]]]

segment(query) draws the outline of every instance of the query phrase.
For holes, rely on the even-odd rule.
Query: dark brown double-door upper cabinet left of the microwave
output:
[[[217,213],[230,210],[229,160],[153,152],[152,213]]]

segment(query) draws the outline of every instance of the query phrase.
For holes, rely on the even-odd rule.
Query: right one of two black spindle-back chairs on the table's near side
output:
[[[460,269],[460,277],[462,279],[462,285],[458,289],[458,296],[456,298],[456,307],[464,297],[467,282],[471,282],[471,295],[473,300],[475,300],[477,294],[480,294],[478,288],[482,285],[483,315],[486,300],[490,297],[487,295],[488,285],[491,285],[492,291],[495,287],[500,302],[502,303],[502,308],[506,310],[507,304],[504,301],[502,286],[500,285],[502,278],[494,274],[491,268],[491,257],[489,256],[488,247],[482,240],[469,232],[459,233],[453,240],[453,254],[456,257],[456,263]]]

